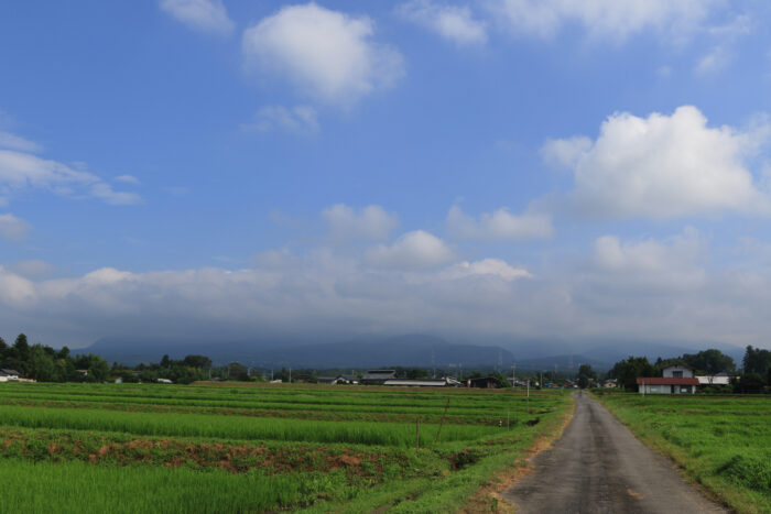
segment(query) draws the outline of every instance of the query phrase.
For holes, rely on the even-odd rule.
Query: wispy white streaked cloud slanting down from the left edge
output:
[[[64,196],[99,198],[107,204],[141,201],[133,193],[118,193],[96,175],[29,153],[0,150],[0,193],[44,188]]]

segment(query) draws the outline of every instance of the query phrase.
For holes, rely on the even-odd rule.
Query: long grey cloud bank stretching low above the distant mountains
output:
[[[104,267],[30,280],[0,266],[0,325],[76,346],[111,335],[345,340],[416,331],[468,341],[768,345],[771,262],[758,261],[754,248],[715,267],[709,241],[693,229],[665,239],[604,236],[586,255],[531,272],[498,259],[453,263],[444,243],[415,233],[361,258],[326,248],[263,252],[243,270]],[[421,238],[428,243],[413,244]],[[425,263],[437,254],[414,266],[414,255]],[[373,255],[387,266],[373,266]]]

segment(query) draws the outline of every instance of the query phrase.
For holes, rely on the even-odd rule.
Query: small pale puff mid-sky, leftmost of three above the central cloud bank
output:
[[[387,212],[379,205],[354,209],[345,204],[336,204],[322,211],[334,239],[388,239],[399,218]]]

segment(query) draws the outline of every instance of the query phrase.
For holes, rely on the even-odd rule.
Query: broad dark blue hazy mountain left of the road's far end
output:
[[[182,342],[169,340],[100,339],[78,353],[99,353],[108,362],[138,364],[158,362],[164,353],[172,359],[186,354],[208,356],[215,363],[239,361],[258,368],[379,368],[389,365],[447,368],[493,367],[499,360],[507,368],[513,354],[499,347],[449,343],[424,335],[380,340],[316,345],[270,342]]]

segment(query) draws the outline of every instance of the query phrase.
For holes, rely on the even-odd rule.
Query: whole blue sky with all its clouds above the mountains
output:
[[[0,4],[0,336],[769,348],[771,6]]]

